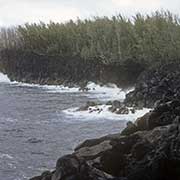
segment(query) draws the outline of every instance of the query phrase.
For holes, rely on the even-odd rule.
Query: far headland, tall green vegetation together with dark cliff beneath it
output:
[[[81,81],[114,73],[110,76],[134,82],[152,65],[180,60],[180,19],[157,11],[131,18],[27,23],[1,28],[0,50],[1,67],[11,78],[28,74],[31,79]]]

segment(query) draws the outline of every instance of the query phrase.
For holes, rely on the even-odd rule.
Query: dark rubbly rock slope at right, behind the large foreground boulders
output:
[[[180,65],[173,63],[151,68],[138,78],[135,90],[127,94],[127,106],[152,108],[157,101],[180,99]]]

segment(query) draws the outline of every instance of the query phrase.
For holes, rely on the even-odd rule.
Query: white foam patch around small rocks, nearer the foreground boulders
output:
[[[97,119],[135,121],[138,117],[141,117],[150,111],[150,109],[143,108],[142,110],[136,110],[134,114],[130,111],[129,114],[122,115],[110,112],[108,110],[109,107],[110,106],[108,105],[99,105],[96,107],[90,107],[90,109],[87,111],[78,111],[78,108],[70,108],[64,110],[63,112],[66,114],[66,116],[75,117],[81,121],[93,121]]]

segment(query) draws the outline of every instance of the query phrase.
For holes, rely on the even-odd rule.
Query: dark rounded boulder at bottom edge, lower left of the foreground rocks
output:
[[[51,180],[113,180],[113,176],[89,165],[75,155],[67,155],[57,161]]]

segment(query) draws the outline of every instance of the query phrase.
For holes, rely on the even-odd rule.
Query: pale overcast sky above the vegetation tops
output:
[[[0,26],[25,22],[64,22],[92,16],[130,16],[168,9],[180,14],[180,0],[0,0]]]

